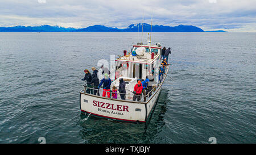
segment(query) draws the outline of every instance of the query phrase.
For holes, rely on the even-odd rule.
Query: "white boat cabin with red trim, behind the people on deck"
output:
[[[149,74],[158,74],[160,65],[160,45],[134,45],[130,53],[115,60],[115,79],[119,77],[144,80]],[[155,82],[159,82],[155,76]]]

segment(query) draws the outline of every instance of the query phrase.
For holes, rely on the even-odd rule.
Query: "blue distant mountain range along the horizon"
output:
[[[0,32],[139,32],[142,31],[142,24],[131,24],[127,28],[113,28],[101,25],[89,26],[86,28],[64,28],[59,26],[14,26],[14,27],[0,27]],[[143,32],[150,32],[151,25],[144,23]],[[205,32],[196,26],[179,25],[175,27],[154,25],[152,32]],[[225,31],[208,31],[208,32],[225,32]]]

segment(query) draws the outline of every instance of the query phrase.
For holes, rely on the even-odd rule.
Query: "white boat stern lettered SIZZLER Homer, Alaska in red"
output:
[[[117,100],[80,92],[81,112],[125,122],[146,122],[147,110],[143,103]]]

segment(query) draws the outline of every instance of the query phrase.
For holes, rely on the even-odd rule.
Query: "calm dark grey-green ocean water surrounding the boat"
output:
[[[136,32],[0,32],[0,143],[256,143],[256,33],[152,40],[172,48],[171,69],[151,118],[134,124],[84,120],[79,91],[83,70],[130,51]]]

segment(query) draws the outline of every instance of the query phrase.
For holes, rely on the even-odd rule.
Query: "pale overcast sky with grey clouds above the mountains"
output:
[[[0,0],[0,27],[125,28],[133,23],[193,25],[208,30],[256,32],[256,0]]]

